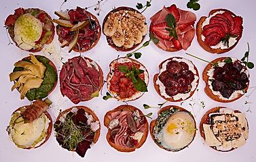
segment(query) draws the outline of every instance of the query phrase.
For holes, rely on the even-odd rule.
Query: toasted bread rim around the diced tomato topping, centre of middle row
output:
[[[119,60],[122,61],[122,59],[128,59],[129,61],[137,63],[137,64],[141,65],[141,67],[145,68],[145,65],[143,65],[139,61],[136,61],[135,59],[132,59],[132,58],[129,58],[129,57],[120,57],[118,59],[113,60],[111,63],[109,63],[109,74],[107,74],[107,88],[108,88],[109,92],[111,92],[111,94],[113,94],[113,97],[115,97],[115,99],[117,99],[118,101],[119,100],[122,100],[122,101],[134,101],[134,100],[139,99],[140,97],[142,97],[145,92],[139,92],[139,91],[136,92],[135,94],[141,93],[141,95],[139,97],[134,98],[134,99],[132,99],[132,97],[135,94],[132,97],[122,98],[121,99],[116,92],[110,90],[110,86],[111,86],[110,80],[111,80],[111,73],[113,75],[113,67],[115,67],[115,63],[118,63]],[[148,82],[145,82],[148,85],[149,84],[149,72],[147,72],[146,68],[145,68],[144,74],[147,74],[147,76],[148,76]],[[144,75],[144,76],[146,78],[146,75]]]

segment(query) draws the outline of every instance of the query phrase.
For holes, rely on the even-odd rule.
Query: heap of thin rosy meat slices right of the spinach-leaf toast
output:
[[[94,65],[88,66],[84,57],[69,59],[60,71],[60,92],[73,103],[89,99],[98,90],[100,74]]]

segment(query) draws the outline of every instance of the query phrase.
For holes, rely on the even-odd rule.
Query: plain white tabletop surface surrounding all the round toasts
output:
[[[101,124],[101,132],[100,132],[100,138],[98,142],[92,146],[91,149],[89,149],[86,153],[86,156],[84,158],[79,157],[77,153],[71,153],[65,149],[62,149],[58,142],[56,142],[56,139],[54,137],[54,131],[52,132],[52,136],[50,136],[50,139],[48,142],[43,144],[43,146],[37,148],[37,149],[31,149],[31,150],[24,150],[21,148],[17,148],[16,145],[8,140],[8,135],[6,132],[6,128],[10,122],[10,117],[12,115],[12,112],[17,109],[18,107],[21,107],[23,105],[30,105],[30,102],[27,99],[20,100],[20,93],[16,90],[14,92],[11,92],[11,87],[13,85],[12,82],[9,80],[8,74],[12,72],[14,68],[14,63],[23,57],[26,57],[29,55],[29,52],[22,51],[15,45],[8,45],[9,43],[9,35],[7,34],[5,28],[0,29],[1,39],[0,39],[0,50],[1,50],[1,59],[0,59],[0,65],[1,65],[1,71],[0,71],[0,83],[1,83],[1,94],[0,94],[0,105],[1,105],[1,113],[0,113],[0,161],[255,161],[256,155],[255,155],[255,146],[256,146],[256,119],[255,119],[255,96],[256,91],[253,92],[256,86],[255,84],[255,69],[249,70],[251,74],[251,82],[250,82],[250,88],[248,90],[248,93],[245,94],[242,98],[240,98],[238,101],[234,101],[233,103],[217,103],[211,99],[209,99],[206,94],[204,93],[204,86],[205,83],[202,80],[202,71],[204,70],[204,67],[207,65],[206,62],[200,61],[198,59],[195,59],[194,57],[190,57],[188,55],[185,55],[185,52],[191,53],[193,55],[196,55],[198,57],[201,57],[202,59],[206,59],[208,61],[212,61],[213,59],[217,57],[237,57],[238,59],[242,59],[244,56],[244,53],[247,51],[247,44],[250,44],[250,55],[249,60],[253,61],[256,65],[256,51],[255,51],[255,44],[256,44],[256,34],[255,34],[255,1],[253,0],[215,0],[215,1],[199,1],[201,8],[198,11],[194,11],[193,9],[187,9],[186,4],[189,0],[176,0],[176,1],[156,1],[153,0],[151,2],[151,7],[149,7],[143,15],[147,18],[147,24],[150,24],[151,21],[149,18],[153,16],[157,11],[162,9],[164,5],[166,7],[172,5],[172,3],[175,3],[177,7],[180,9],[185,9],[189,11],[193,11],[197,16],[197,21],[200,19],[201,16],[208,16],[208,12],[211,11],[211,9],[230,9],[233,11],[236,15],[242,16],[244,22],[244,31],[242,32],[242,38],[240,39],[238,45],[232,51],[229,51],[227,53],[217,55],[212,54],[204,51],[198,45],[198,42],[196,40],[196,37],[191,43],[191,47],[187,49],[187,51],[178,51],[175,53],[169,53],[162,51],[161,49],[158,49],[153,43],[150,43],[148,47],[144,47],[140,50],[141,53],[143,53],[142,57],[138,60],[143,63],[147,70],[149,71],[149,86],[148,90],[149,92],[146,92],[143,97],[136,101],[130,101],[129,105],[134,105],[135,107],[138,107],[143,111],[143,113],[147,114],[152,112],[153,119],[156,119],[158,109],[144,109],[143,104],[146,103],[150,106],[158,106],[159,103],[164,103],[164,99],[162,99],[156,92],[156,90],[153,88],[153,75],[159,72],[158,65],[163,60],[168,59],[169,57],[174,56],[180,56],[185,57],[187,59],[190,59],[193,61],[193,63],[198,68],[198,71],[200,73],[200,82],[198,86],[198,92],[195,92],[194,96],[185,101],[182,105],[181,103],[166,103],[165,105],[179,105],[183,108],[187,109],[188,111],[191,111],[192,114],[194,114],[194,117],[196,118],[197,126],[199,126],[200,119],[202,115],[212,107],[216,106],[225,106],[230,107],[232,109],[238,109],[242,111],[243,113],[246,113],[246,118],[249,121],[249,139],[246,140],[246,144],[244,146],[241,146],[240,148],[237,148],[234,151],[231,151],[229,153],[221,153],[218,151],[213,150],[209,146],[207,146],[204,143],[204,140],[200,136],[199,131],[197,131],[196,138],[194,141],[190,144],[189,148],[185,148],[183,151],[179,151],[177,153],[172,153],[165,151],[161,148],[159,148],[151,139],[151,136],[149,135],[147,137],[147,140],[141,148],[137,149],[133,153],[120,153],[116,151],[114,148],[111,148],[109,144],[107,143],[107,140],[105,138],[107,133],[107,128],[103,126],[103,117],[105,113],[111,109],[114,109],[118,105],[122,105],[125,103],[122,103],[121,101],[116,101],[115,99],[109,99],[108,101],[104,101],[102,99],[103,95],[107,92],[107,86],[106,84],[103,86],[102,94],[100,94],[100,97],[94,98],[87,102],[79,103],[78,105],[85,105],[87,107],[90,107],[90,109],[94,110],[96,115],[98,115],[98,118],[100,119]],[[52,18],[58,18],[58,16],[54,15],[54,11],[60,10],[60,5],[64,2],[64,0],[43,0],[43,1],[18,1],[18,0],[11,0],[11,1],[5,1],[5,3],[1,3],[0,6],[0,20],[3,22],[2,26],[4,26],[4,20],[7,18],[8,15],[14,14],[14,9],[17,9],[18,7],[35,7],[40,8],[46,11]],[[104,2],[104,3],[103,3]],[[113,7],[120,7],[120,6],[128,6],[128,7],[135,7],[136,3],[143,3],[145,4],[145,0],[130,0],[130,1],[114,1],[114,0],[107,0],[103,1],[101,4],[101,11],[100,16],[97,16],[100,25],[103,23],[103,19],[105,18],[105,15],[111,11]],[[7,4],[6,4],[7,3]],[[62,5],[62,10],[65,9],[73,9],[75,7],[89,7],[91,5],[95,5],[97,3],[96,0],[67,0],[67,2]],[[92,14],[96,15],[96,11],[94,11],[94,7],[90,7],[88,9]],[[142,10],[141,10],[142,11]],[[149,36],[147,34],[145,41],[149,40]],[[56,68],[58,69],[58,74],[60,72],[62,62],[60,61],[60,58],[62,57],[62,61],[67,61],[68,58],[75,57],[79,55],[79,53],[71,52],[67,53],[67,48],[62,49],[60,51],[60,45],[58,43],[57,36],[55,36],[54,41],[51,45],[48,47],[45,47],[43,51],[39,53],[35,53],[37,55],[45,55],[46,57],[50,58],[56,65]],[[52,55],[49,54],[52,53]],[[107,77],[107,73],[109,72],[109,63],[117,58],[117,55],[125,56],[127,52],[117,52],[111,47],[107,45],[106,37],[104,34],[101,34],[100,41],[98,42],[98,45],[94,47],[92,50],[81,53],[81,55],[84,55],[86,57],[89,57],[90,59],[93,59],[96,61],[100,67],[103,69],[104,78]],[[249,96],[249,94],[251,94]],[[249,97],[248,97],[249,96]],[[54,92],[50,94],[49,99],[53,102],[53,105],[48,112],[51,114],[52,119],[55,121],[56,116],[58,115],[58,112],[60,109],[68,109],[69,107],[74,106],[67,97],[62,97],[59,90],[59,83],[57,84]],[[193,99],[194,101],[191,101]],[[204,102],[205,108],[203,109],[199,105],[195,104],[193,107],[191,105],[194,104],[194,102]],[[247,102],[250,102],[250,104],[245,104]],[[189,105],[191,104],[191,105]],[[164,105],[164,106],[165,106]],[[246,112],[248,109],[251,109],[252,112]],[[147,118],[150,122],[151,119]]]

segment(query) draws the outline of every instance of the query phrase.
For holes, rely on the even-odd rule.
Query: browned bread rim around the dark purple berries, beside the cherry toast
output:
[[[226,58],[227,57],[219,57],[219,58],[211,61],[211,63],[217,63],[219,61],[224,61]],[[238,60],[238,61],[240,63],[242,63],[240,60]],[[230,99],[230,100],[223,100],[218,95],[213,94],[213,91],[210,89],[210,86],[208,85],[209,76],[207,75],[208,71],[213,66],[211,63],[208,63],[208,65],[206,65],[206,67],[204,68],[204,71],[202,72],[202,80],[204,80],[204,82],[205,82],[204,92],[206,93],[206,95],[208,97],[210,97],[211,99],[213,99],[214,101],[217,101],[217,102],[220,102],[220,103],[230,103],[230,102],[236,101],[237,99],[240,99],[240,97],[242,97],[244,94],[238,94],[238,97],[236,97],[234,99]],[[244,66],[244,69],[246,70],[247,68]],[[250,75],[248,76],[248,78],[249,77],[250,77]],[[249,82],[246,83],[247,88],[244,89],[245,92],[249,88]]]

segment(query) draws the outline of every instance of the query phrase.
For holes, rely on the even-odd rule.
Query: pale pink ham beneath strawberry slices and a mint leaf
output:
[[[178,34],[178,41],[181,43],[181,47],[184,50],[187,50],[187,48],[191,45],[191,41],[193,40],[196,30],[194,28],[194,23],[196,21],[196,14],[194,14],[191,11],[185,11],[182,9],[177,8],[179,11],[179,21],[177,22],[176,30]],[[160,24],[162,22],[166,22],[166,16],[170,14],[170,11],[168,10],[168,7],[163,7],[162,10],[158,11],[155,15],[153,15],[150,20],[153,25]],[[189,24],[189,25],[187,25]],[[183,28],[183,26],[186,26]],[[180,30],[180,28],[182,30]],[[166,49],[170,49],[171,47],[174,47],[171,39],[173,38],[170,36],[168,40],[160,38],[156,34],[154,34],[156,38],[158,38],[160,41],[158,45],[162,47],[164,51]]]

